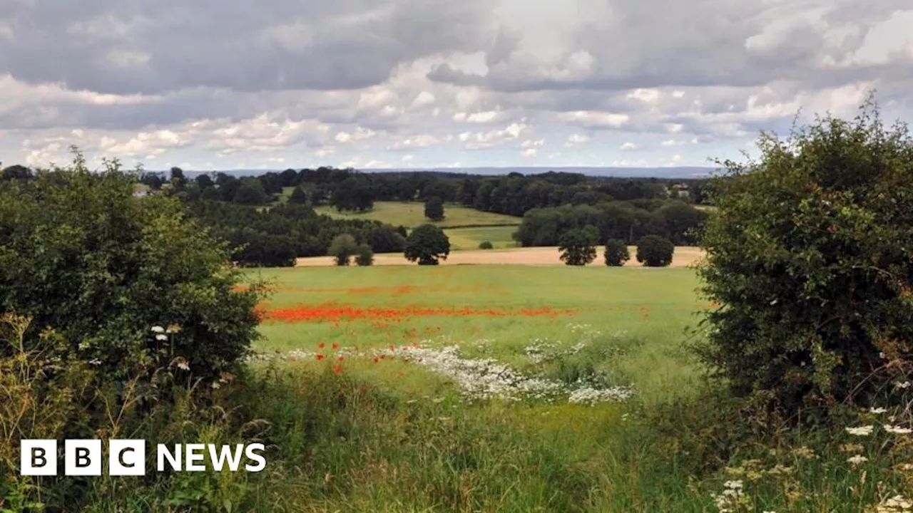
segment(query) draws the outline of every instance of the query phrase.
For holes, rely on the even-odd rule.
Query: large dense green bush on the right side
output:
[[[881,355],[906,361],[913,340],[913,141],[869,99],[854,121],[759,146],[714,184],[699,272],[720,306],[699,354],[733,393],[789,414],[868,405],[888,386]]]

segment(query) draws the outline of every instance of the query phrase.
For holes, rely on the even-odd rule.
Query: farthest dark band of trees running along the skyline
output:
[[[356,212],[370,210],[376,201],[425,201],[431,197],[483,212],[517,216],[533,208],[563,204],[595,205],[666,198],[702,204],[707,199],[705,180],[592,177],[554,172],[481,176],[435,172],[360,173],[352,169],[320,167],[246,177],[204,173],[188,180],[183,170],[172,168],[170,179],[165,173],[143,173],[141,181],[153,190],[167,185],[192,199],[238,204],[268,204],[275,201],[283,189],[290,187],[290,203],[330,204],[341,211]]]

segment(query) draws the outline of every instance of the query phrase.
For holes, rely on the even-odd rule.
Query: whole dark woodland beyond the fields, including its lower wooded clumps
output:
[[[0,172],[3,180],[33,176],[21,165]],[[242,266],[285,267],[296,257],[330,254],[333,239],[348,233],[373,253],[400,253],[404,226],[377,221],[340,220],[318,215],[329,204],[340,211],[365,211],[376,201],[425,201],[425,215],[443,217],[443,204],[523,216],[514,235],[520,246],[557,246],[565,232],[593,226],[598,239],[633,243],[642,236],[664,236],[677,245],[694,242],[705,213],[691,203],[706,201],[706,181],[656,178],[588,177],[579,173],[480,176],[465,173],[360,173],[320,167],[281,173],[234,176],[201,173],[188,178],[178,167],[170,173],[141,172],[139,182],[154,194],[180,199],[187,211],[233,247]],[[682,188],[684,183],[685,187]],[[291,187],[288,202],[278,198]],[[142,193],[141,193],[142,194]],[[670,197],[675,199],[669,199]]]

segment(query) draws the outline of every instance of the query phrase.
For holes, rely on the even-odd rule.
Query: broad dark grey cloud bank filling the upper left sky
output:
[[[441,0],[282,0],[268,8],[243,0],[43,0],[6,5],[0,20],[14,35],[0,38],[0,73],[121,94],[359,89],[402,62],[474,49],[486,30],[484,3]],[[75,24],[80,30],[68,31]],[[304,44],[283,44],[283,30]]]

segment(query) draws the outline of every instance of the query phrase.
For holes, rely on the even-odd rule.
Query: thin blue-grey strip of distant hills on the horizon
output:
[[[282,169],[232,169],[232,170],[213,170],[191,171],[184,170],[188,177],[200,173],[220,172],[233,174],[235,176],[257,176],[259,174],[269,173],[270,171],[280,173],[287,168]],[[299,169],[298,167],[293,169]],[[446,168],[374,168],[360,169],[362,173],[415,173],[415,172],[432,172],[447,174],[477,174],[477,175],[498,175],[509,173],[521,174],[539,174],[554,171],[556,173],[581,173],[587,176],[612,176],[623,178],[703,178],[716,172],[712,167],[446,167]],[[152,170],[149,170],[152,171]],[[167,173],[165,171],[155,171],[155,173]]]

